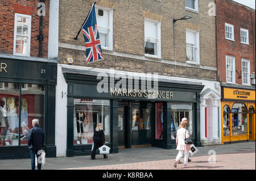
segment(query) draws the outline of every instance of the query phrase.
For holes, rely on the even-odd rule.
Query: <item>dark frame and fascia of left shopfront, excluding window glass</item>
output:
[[[28,61],[0,58],[0,82],[18,83],[19,97],[23,83],[44,85],[44,148],[46,157],[56,157],[55,146],[55,96],[57,61]],[[3,69],[5,67],[5,69]],[[20,103],[19,99],[19,103]],[[20,108],[19,108],[20,109]],[[20,110],[19,110],[20,112]],[[19,133],[20,135],[20,133]],[[19,136],[20,137],[20,136]],[[27,145],[1,146],[0,159],[30,158]]]

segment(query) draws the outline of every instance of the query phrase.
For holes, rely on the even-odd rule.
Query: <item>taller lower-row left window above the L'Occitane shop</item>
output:
[[[230,56],[226,56],[226,82],[236,83],[235,58]]]

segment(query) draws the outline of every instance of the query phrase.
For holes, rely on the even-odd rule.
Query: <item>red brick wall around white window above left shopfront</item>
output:
[[[0,1],[0,53],[13,54],[14,45],[14,19],[15,13],[31,15],[31,38],[30,56],[38,57],[39,23],[38,3],[40,1],[27,0],[1,0]],[[46,16],[43,16],[43,36],[42,57],[48,57],[48,33],[49,33],[49,1],[44,1],[46,5]]]

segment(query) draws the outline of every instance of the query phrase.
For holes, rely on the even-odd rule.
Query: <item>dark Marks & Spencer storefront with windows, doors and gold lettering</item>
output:
[[[143,89],[141,78],[138,82],[123,78],[122,72],[122,78],[115,74],[112,79],[108,73],[98,76],[100,71],[62,68],[68,87],[67,157],[91,154],[93,129],[100,122],[112,153],[146,146],[176,148],[176,131],[183,117],[188,118],[189,133],[200,146],[201,83],[158,78],[157,90]],[[149,84],[155,86],[153,79],[144,86]]]

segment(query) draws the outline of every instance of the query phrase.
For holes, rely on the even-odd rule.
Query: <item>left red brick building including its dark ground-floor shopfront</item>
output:
[[[47,157],[56,157],[57,60],[48,59],[49,4],[0,2],[0,159],[30,157],[33,119],[44,129]]]

